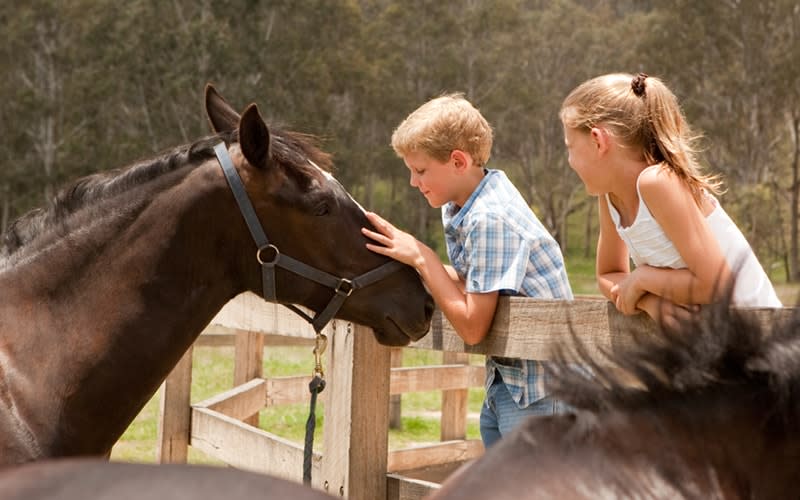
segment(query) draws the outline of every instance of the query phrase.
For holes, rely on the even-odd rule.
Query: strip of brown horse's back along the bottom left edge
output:
[[[3,500],[324,500],[318,490],[221,467],[68,459],[0,471]]]

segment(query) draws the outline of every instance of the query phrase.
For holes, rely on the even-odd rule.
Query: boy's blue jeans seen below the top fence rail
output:
[[[531,415],[553,415],[566,413],[569,407],[558,400],[546,397],[525,408],[520,408],[511,399],[506,384],[499,373],[486,391],[486,399],[481,407],[481,440],[484,448],[489,448],[505,436],[520,422]]]

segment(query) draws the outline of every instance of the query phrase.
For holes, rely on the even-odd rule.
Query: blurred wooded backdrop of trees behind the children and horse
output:
[[[728,182],[727,203],[775,194],[780,216],[759,231],[787,243],[759,256],[798,253],[785,196],[800,170],[794,0],[35,0],[0,5],[0,24],[0,230],[71,179],[208,133],[210,81],[237,108],[255,101],[273,124],[321,136],[366,207],[443,254],[439,213],[409,188],[389,139],[425,100],[462,91],[495,129],[490,166],[571,253],[572,227],[592,214],[567,165],[561,100],[591,76],[645,71],[706,136],[703,162]]]

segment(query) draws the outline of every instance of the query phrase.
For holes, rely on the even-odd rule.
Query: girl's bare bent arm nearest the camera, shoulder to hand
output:
[[[689,189],[671,171],[656,168],[641,175],[639,192],[687,268],[637,268],[618,287],[624,307],[635,307],[634,298],[646,292],[677,304],[712,302],[730,284],[731,271]]]

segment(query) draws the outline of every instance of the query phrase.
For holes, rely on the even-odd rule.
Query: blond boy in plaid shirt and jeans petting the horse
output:
[[[486,336],[499,295],[572,299],[555,239],[505,173],[485,167],[492,148],[489,123],[461,94],[438,97],[411,113],[392,134],[411,185],[442,208],[452,267],[377,214],[367,217],[379,244],[370,250],[414,267],[439,309],[467,344]],[[525,416],[552,414],[560,403],[543,391],[540,362],[487,357],[481,439],[488,448]]]

